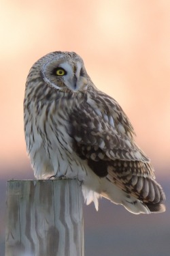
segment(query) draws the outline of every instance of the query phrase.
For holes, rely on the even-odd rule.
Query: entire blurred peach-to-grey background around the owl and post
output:
[[[95,85],[115,98],[150,156],[167,212],[135,216],[102,199],[84,207],[86,256],[170,253],[169,0],[1,0],[0,255],[5,248],[5,186],[33,179],[23,132],[29,69],[52,51],[75,51]]]

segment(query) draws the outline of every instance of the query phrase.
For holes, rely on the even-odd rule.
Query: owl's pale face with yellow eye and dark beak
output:
[[[42,79],[54,89],[84,91],[89,77],[79,55],[68,52],[49,53],[37,61]]]

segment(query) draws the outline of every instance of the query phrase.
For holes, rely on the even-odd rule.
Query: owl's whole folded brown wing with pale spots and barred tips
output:
[[[75,152],[99,177],[107,177],[138,199],[163,201],[150,160],[133,140],[133,127],[118,103],[99,92],[80,102],[70,116]]]

